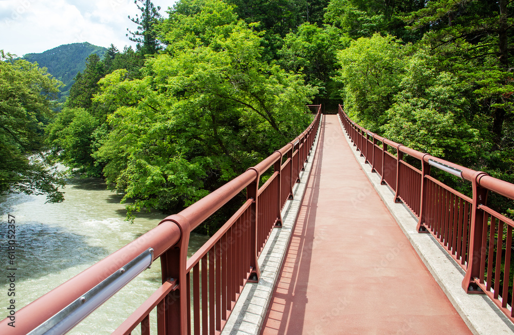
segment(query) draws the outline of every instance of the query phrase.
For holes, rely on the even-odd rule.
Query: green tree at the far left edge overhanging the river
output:
[[[43,155],[44,124],[53,116],[61,85],[45,68],[0,50],[0,193],[64,199],[58,189],[64,181]]]

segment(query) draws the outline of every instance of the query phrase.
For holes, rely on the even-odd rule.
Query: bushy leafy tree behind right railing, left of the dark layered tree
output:
[[[490,144],[483,141],[467,99],[467,85],[453,73],[438,70],[438,59],[419,49],[409,57],[400,91],[386,111],[383,136],[465,166],[472,166]]]

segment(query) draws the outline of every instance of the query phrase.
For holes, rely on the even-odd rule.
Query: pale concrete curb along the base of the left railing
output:
[[[228,334],[252,334],[258,335],[266,317],[273,289],[282,263],[285,258],[292,228],[295,226],[298,212],[305,194],[305,188],[313,165],[314,155],[321,134],[323,116],[318,128],[318,136],[313,144],[305,171],[300,173],[300,183],[293,187],[293,200],[288,200],[282,210],[282,228],[275,228],[266,242],[259,256],[259,269],[261,278],[259,283],[247,283],[230,313],[230,317],[223,328],[222,335]]]

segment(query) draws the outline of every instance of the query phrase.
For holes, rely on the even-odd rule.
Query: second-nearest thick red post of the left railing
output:
[[[246,188],[247,199],[253,199],[253,202],[250,206],[250,255],[248,255],[250,257],[250,275],[248,276],[248,282],[257,283],[261,277],[259,263],[257,260],[257,227],[259,218],[259,203],[257,194],[259,191],[259,180],[261,179],[261,175],[259,171],[255,169],[255,167],[250,167],[248,170],[253,170],[256,174],[255,180],[252,181]]]

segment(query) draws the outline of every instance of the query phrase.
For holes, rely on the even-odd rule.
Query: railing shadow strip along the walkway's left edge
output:
[[[309,280],[313,248],[316,245],[316,212],[325,141],[324,123],[313,167],[305,189],[295,228],[293,229],[286,259],[279,274],[279,282],[266,313],[261,334],[301,334],[307,304],[306,287]]]

